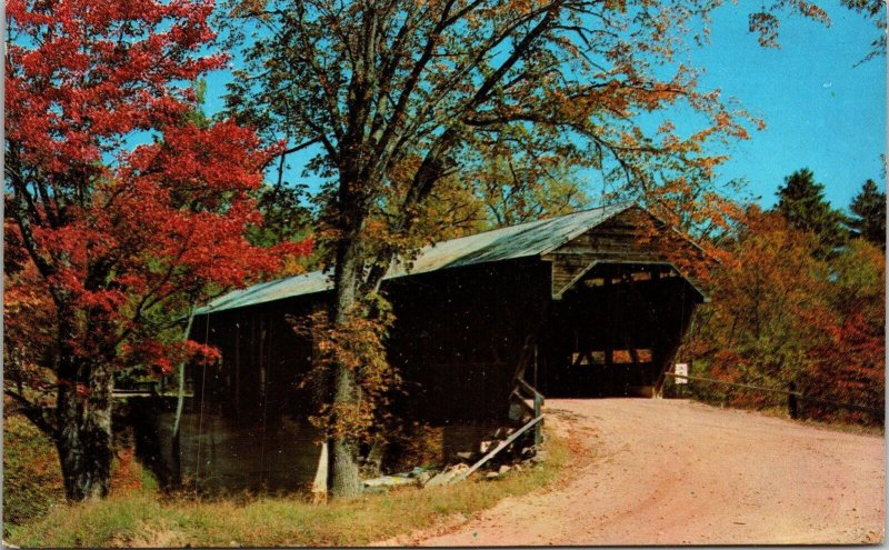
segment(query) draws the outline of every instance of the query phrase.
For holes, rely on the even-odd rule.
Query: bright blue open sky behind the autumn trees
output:
[[[748,31],[749,2],[729,2],[713,14],[710,44],[685,53],[690,64],[706,69],[699,79],[702,88],[718,88],[765,119],[766,130],[719,151],[731,157],[720,180],[746,180],[745,194],[760,197],[763,207],[775,203],[783,178],[800,168],[815,172],[837,208],[848,208],[868,178],[885,184],[880,154],[886,151],[886,59],[855,67],[868,53],[877,29],[837,0],[822,6],[830,27],[782,17],[781,48],[767,49]],[[228,80],[228,73],[208,80],[210,112],[221,108]],[[289,180],[302,180],[308,158],[308,152],[288,158]]]

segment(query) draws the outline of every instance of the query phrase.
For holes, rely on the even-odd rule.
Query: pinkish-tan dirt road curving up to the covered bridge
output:
[[[418,546],[880,542],[883,439],[678,400],[548,400],[588,443],[562,487],[507,499]],[[443,532],[442,532],[443,531]]]

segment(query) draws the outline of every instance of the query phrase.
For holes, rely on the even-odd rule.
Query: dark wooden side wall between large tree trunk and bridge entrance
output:
[[[390,288],[390,361],[406,381],[404,412],[438,424],[506,418],[518,362],[550,301],[549,266],[512,260]]]

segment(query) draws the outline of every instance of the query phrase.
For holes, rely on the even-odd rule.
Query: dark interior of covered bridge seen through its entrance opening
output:
[[[547,397],[650,397],[699,301],[669,264],[597,264],[552,303],[525,378]]]

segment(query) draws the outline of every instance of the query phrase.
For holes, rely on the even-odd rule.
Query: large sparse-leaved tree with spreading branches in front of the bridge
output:
[[[609,188],[671,222],[689,198],[716,202],[706,191],[725,157],[708,143],[747,138],[756,121],[700,90],[673,56],[703,39],[706,29],[688,27],[706,26],[719,3],[231,0],[236,41],[237,29],[256,30],[231,112],[288,150],[312,147],[308,168],[327,179],[319,236],[333,267],[332,326],[363,316],[391,262],[429,242],[426,203],[478,162],[598,169]],[[826,18],[809,2],[778,7]],[[672,107],[698,113],[698,131],[641,123],[640,113]],[[705,217],[725,221],[718,208]],[[356,417],[361,383],[331,364],[336,427]],[[333,494],[352,494],[358,446],[328,433]]]

